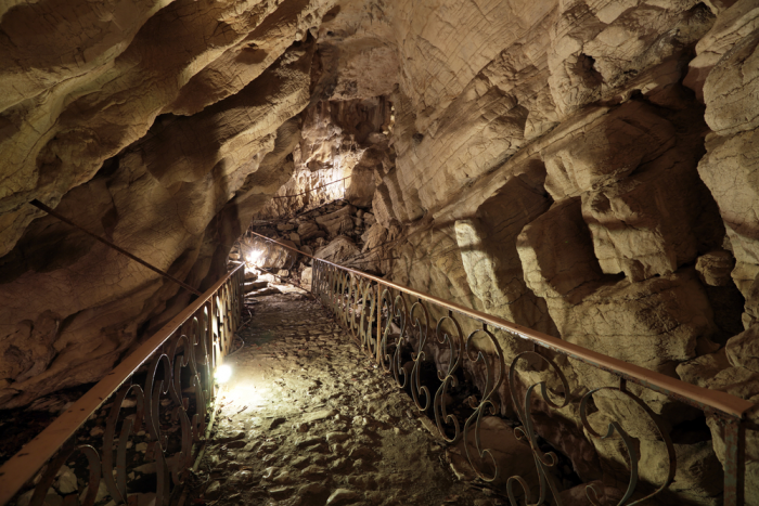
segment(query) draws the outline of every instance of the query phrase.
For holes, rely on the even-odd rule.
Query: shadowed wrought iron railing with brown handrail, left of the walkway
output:
[[[167,504],[193,464],[193,445],[205,437],[214,372],[240,324],[243,282],[242,267],[219,280],[5,462],[0,505],[31,486],[29,506],[41,506],[57,471],[77,453],[89,463],[85,506],[94,504],[101,478],[116,504],[137,504],[127,489],[129,471],[150,462],[155,464],[155,504]],[[102,445],[79,444],[78,431],[106,403]],[[176,430],[164,430],[167,420]],[[130,440],[142,430],[150,440],[144,462],[127,462]]]

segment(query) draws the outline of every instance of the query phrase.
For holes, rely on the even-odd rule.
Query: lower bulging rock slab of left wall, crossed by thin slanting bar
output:
[[[232,219],[237,205],[224,205],[248,174],[261,169],[282,122],[307,105],[311,50],[295,51],[288,63],[272,66],[246,92],[197,116],[164,122],[108,170],[68,192],[56,208],[190,285],[201,286],[207,275],[216,278],[215,250],[228,250],[241,232],[240,221]],[[214,134],[202,142],[188,135],[198,129]],[[156,147],[164,143],[166,148]],[[182,151],[186,156],[177,154]],[[217,216],[227,217],[231,236],[224,238],[211,225]],[[173,283],[51,217],[33,223],[14,251],[3,262],[0,341],[16,333],[16,323],[34,322],[46,311],[67,319],[67,325],[52,338],[52,363],[39,356],[37,365],[10,376],[14,382],[0,392],[8,406],[99,379],[137,342],[140,325],[159,328],[189,298],[185,293],[175,297],[179,288]],[[41,291],[30,293],[33,285]],[[2,355],[0,369],[8,362],[17,360]],[[36,374],[24,376],[33,368]]]

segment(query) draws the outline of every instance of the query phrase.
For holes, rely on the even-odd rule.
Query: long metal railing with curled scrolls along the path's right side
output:
[[[519,437],[523,440],[527,440],[535,453],[536,462],[539,464],[540,472],[543,476],[550,475],[549,468],[555,465],[555,458],[545,459],[548,454],[543,454],[540,450],[538,438],[541,436],[535,428],[533,420],[531,419],[531,406],[530,395],[541,395],[545,405],[551,410],[561,410],[569,404],[577,404],[579,401],[579,417],[582,424],[581,430],[586,432],[586,437],[589,438],[589,442],[593,444],[592,439],[606,439],[617,433],[621,439],[621,442],[627,446],[627,453],[630,455],[630,481],[628,484],[628,490],[625,493],[622,503],[627,504],[628,499],[631,499],[635,493],[635,486],[639,482],[638,476],[638,460],[635,457],[636,453],[634,450],[634,442],[625,431],[623,425],[627,423],[625,417],[614,421],[609,425],[608,433],[605,436],[603,433],[596,432],[595,429],[588,421],[588,406],[592,405],[594,402],[593,395],[596,392],[603,391],[601,394],[608,394],[614,392],[615,395],[619,395],[625,402],[630,403],[631,406],[636,405],[636,408],[641,408],[643,413],[648,416],[656,430],[659,432],[658,437],[661,441],[666,443],[667,454],[669,456],[669,468],[666,475],[662,475],[661,482],[657,484],[657,489],[639,501],[647,501],[651,497],[656,496],[665,489],[667,489],[674,480],[677,472],[677,454],[674,445],[671,441],[670,434],[666,429],[666,426],[661,424],[660,416],[652,410],[651,406],[644,401],[645,397],[640,395],[639,390],[630,389],[629,387],[634,384],[636,389],[646,389],[648,391],[654,391],[667,395],[669,402],[682,402],[686,405],[694,406],[705,414],[711,416],[715,415],[719,417],[722,424],[721,432],[724,434],[724,442],[726,444],[725,456],[723,462],[724,467],[724,490],[723,499],[724,504],[729,506],[744,506],[745,503],[745,473],[746,473],[746,430],[747,428],[755,430],[755,426],[747,426],[745,420],[745,415],[749,410],[755,407],[755,404],[746,399],[742,399],[736,395],[732,395],[728,392],[711,390],[703,387],[698,387],[693,384],[685,382],[677,377],[668,376],[656,371],[652,371],[636,364],[626,362],[623,360],[609,356],[594,350],[583,348],[581,346],[575,345],[569,340],[556,338],[549,336],[546,334],[533,330],[531,328],[524,327],[514,322],[509,322],[498,316],[491,314],[483,313],[480,311],[450,302],[429,294],[413,289],[408,286],[387,281],[382,277],[377,277],[371,274],[366,274],[355,269],[346,268],[334,262],[330,262],[323,259],[316,259],[310,255],[306,255],[303,251],[297,250],[291,246],[278,243],[274,239],[266,237],[260,234],[258,235],[272,244],[276,244],[280,247],[287,248],[299,252],[306,257],[310,257],[314,260],[314,267],[318,268],[314,271],[314,278],[320,280],[317,284],[317,294],[320,296],[322,304],[333,314],[333,316],[344,327],[349,327],[349,333],[352,330],[352,325],[357,314],[350,313],[350,300],[351,295],[353,298],[357,297],[356,294],[351,293],[352,286],[348,283],[348,278],[363,278],[366,282],[375,283],[377,289],[377,329],[376,329],[376,351],[374,353],[373,360],[376,361],[383,368],[383,371],[391,375],[395,378],[395,382],[400,388],[411,388],[411,393],[413,395],[416,407],[421,412],[425,412],[432,404],[435,411],[435,421],[437,424],[437,429],[439,434],[448,442],[455,442],[462,436],[466,440],[467,432],[471,434],[472,431],[475,433],[475,441],[477,444],[477,451],[479,454],[479,459],[471,458],[468,454],[468,444],[464,447],[467,450],[467,458],[469,465],[473,467],[477,476],[485,480],[491,481],[498,477],[498,468],[489,470],[488,473],[483,473],[481,469],[477,470],[477,462],[481,460],[483,456],[489,452],[488,449],[479,447],[479,426],[480,417],[485,416],[486,412],[494,413],[496,407],[499,402],[503,402],[504,399],[499,399],[499,386],[503,380],[504,372],[509,371],[509,388],[511,397],[510,399],[514,402],[516,414],[522,423],[522,428],[517,428],[516,431],[519,432]],[[348,294],[346,295],[346,289]],[[388,314],[387,319],[383,321],[383,291],[388,290]],[[415,302],[409,306],[408,301],[414,300]],[[368,304],[362,304],[361,311],[366,311]],[[358,306],[356,306],[358,308]],[[433,308],[434,307],[434,308]],[[445,319],[450,320],[449,328],[451,333],[442,332],[438,334],[440,329],[440,323],[436,327],[435,339],[428,339],[428,333],[430,332],[430,308],[436,311],[441,311],[443,314],[448,313],[448,316],[440,319],[442,322]],[[350,320],[348,316],[350,315]],[[471,333],[468,336],[462,334],[462,325],[456,319],[464,317],[468,319],[471,323],[476,323],[480,326],[480,329]],[[386,347],[388,348],[387,353],[390,354],[389,361],[386,362],[385,355],[382,352],[382,339],[385,333],[389,333],[390,325],[394,321],[398,324],[400,328],[400,335],[388,334],[388,342]],[[525,339],[532,345],[531,351],[524,351],[518,353],[510,363],[504,360],[504,354],[499,342],[499,339],[492,334],[493,329],[499,329],[512,338]],[[477,340],[484,340],[488,348],[483,348],[477,340],[474,339],[476,335]],[[413,368],[409,372],[403,364],[403,353],[408,351],[408,345],[414,346],[413,341],[419,337],[416,358],[412,353],[412,360],[414,361]],[[448,368],[447,371],[441,371],[438,368],[438,378],[442,381],[442,385],[438,388],[435,399],[430,403],[430,391],[426,386],[423,386],[420,380],[420,369],[422,364],[420,363],[424,354],[424,346],[429,342],[434,345],[437,341],[437,346],[442,345],[443,348],[448,348]],[[361,346],[361,343],[359,343]],[[406,347],[406,351],[402,351]],[[393,351],[389,351],[393,349]],[[551,350],[551,352],[545,353],[544,349]],[[543,352],[541,352],[543,350]],[[616,377],[616,385],[609,386],[599,386],[592,390],[586,392],[581,398],[573,397],[569,394],[569,384],[565,377],[562,367],[557,365],[556,362],[551,358],[553,354],[559,354],[566,359],[571,359],[573,361],[581,362],[588,366],[594,367],[599,371],[604,371],[612,373]],[[490,358],[488,358],[488,354]],[[370,354],[371,356],[371,354]],[[519,377],[517,371],[517,362],[524,361],[538,361],[542,362],[546,371],[553,372],[554,380],[558,381],[559,388],[554,390],[548,388],[545,381],[540,381],[527,385],[528,381],[532,379],[527,377]],[[485,385],[484,390],[480,390],[479,397],[481,399],[477,401],[478,395],[471,395],[467,398],[467,402],[471,407],[476,407],[474,414],[469,415],[463,426],[463,432],[460,427],[459,418],[456,413],[453,414],[447,411],[446,399],[447,389],[455,388],[460,381],[460,376],[456,372],[460,367],[464,365],[464,362],[468,362],[468,365],[481,362],[478,364],[480,367],[486,368],[486,378],[488,381]],[[408,362],[407,362],[408,363]],[[440,365],[437,365],[440,367]],[[491,371],[492,369],[492,371]],[[520,385],[520,389],[517,389],[517,384]],[[520,391],[526,391],[526,397],[524,402],[518,401],[517,397]],[[509,402],[509,401],[505,401]],[[522,407],[520,407],[522,406]],[[452,437],[449,437],[452,434]],[[554,464],[551,464],[551,463]],[[494,462],[491,463],[494,465]],[[493,472],[494,471],[494,472]],[[522,483],[523,491],[526,493],[526,482],[520,477],[510,477],[510,483]],[[556,499],[558,499],[558,490],[551,488],[551,493]],[[595,495],[596,491],[592,485],[588,489],[589,497],[590,495]],[[515,499],[512,497],[512,490],[509,491],[510,499],[512,504],[515,504]],[[541,495],[542,496],[542,495]],[[596,497],[597,498],[597,497]],[[541,502],[543,499],[541,498]],[[596,504],[596,503],[594,503]]]

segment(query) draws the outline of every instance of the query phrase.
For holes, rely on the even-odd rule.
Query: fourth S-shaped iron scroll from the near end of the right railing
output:
[[[442,330],[443,323],[446,323],[447,321],[453,322],[455,335],[451,336],[448,333],[443,332],[441,337],[440,332]],[[435,327],[435,336],[437,337],[438,343],[443,346],[448,345],[448,349],[450,352],[450,359],[448,360],[448,368],[446,369],[446,373],[443,374],[442,371],[439,369],[437,372],[437,377],[438,379],[440,379],[440,381],[442,381],[442,384],[437,389],[437,392],[435,392],[435,399],[433,401],[433,410],[435,411],[435,423],[437,424],[437,429],[440,432],[440,437],[449,443],[455,443],[456,441],[459,441],[459,438],[461,438],[461,429],[459,428],[459,419],[455,416],[448,414],[448,412],[446,411],[446,395],[448,393],[449,386],[453,388],[459,386],[459,380],[455,377],[455,372],[459,368],[459,365],[461,364],[462,347],[464,340],[461,332],[461,325],[459,325],[459,322],[453,317],[453,313],[451,311],[448,311],[448,316],[443,316],[440,320],[438,320],[437,326]],[[447,424],[453,425],[453,438],[448,438],[448,436],[446,434],[445,425]]]

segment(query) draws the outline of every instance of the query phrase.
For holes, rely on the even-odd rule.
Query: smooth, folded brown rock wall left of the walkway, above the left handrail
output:
[[[0,405],[99,379],[190,299],[26,203],[209,286],[293,170],[317,46],[308,30],[332,7],[3,8]]]

